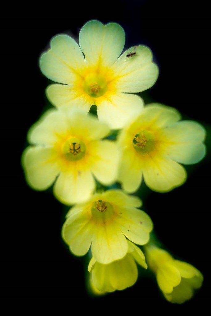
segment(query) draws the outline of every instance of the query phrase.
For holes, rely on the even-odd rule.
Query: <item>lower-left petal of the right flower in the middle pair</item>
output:
[[[123,150],[119,168],[119,181],[123,189],[133,193],[138,190],[142,182],[141,161],[134,150]]]

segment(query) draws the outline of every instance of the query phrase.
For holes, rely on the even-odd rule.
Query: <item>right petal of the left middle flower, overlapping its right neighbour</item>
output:
[[[91,166],[92,173],[103,184],[113,183],[117,178],[119,165],[119,150],[116,143],[104,140],[90,145],[92,152],[96,152],[96,156],[93,155],[95,163]]]

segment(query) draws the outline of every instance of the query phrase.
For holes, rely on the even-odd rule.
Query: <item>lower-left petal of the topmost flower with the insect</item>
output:
[[[85,94],[78,94],[69,85],[51,84],[46,90],[48,100],[56,107],[67,106],[87,114],[92,104],[86,99]]]

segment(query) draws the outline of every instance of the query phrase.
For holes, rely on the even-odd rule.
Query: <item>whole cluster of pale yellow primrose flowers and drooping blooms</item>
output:
[[[196,122],[180,121],[174,108],[144,106],[133,93],[156,82],[158,67],[148,47],[133,46],[122,53],[124,44],[119,24],[99,21],[82,27],[79,45],[68,35],[51,40],[40,69],[57,82],[46,90],[55,108],[28,132],[30,146],[22,166],[32,188],[53,185],[60,202],[75,204],[66,215],[62,237],[73,254],[90,256],[94,293],[132,286],[137,264],[147,269],[147,259],[164,297],[182,303],[201,286],[202,274],[147,244],[152,220],[138,209],[140,199],[127,193],[135,192],[142,178],[158,192],[182,185],[186,172],[181,164],[196,163],[205,155],[205,131]],[[97,117],[88,113],[92,105]],[[113,140],[116,129],[121,131]]]

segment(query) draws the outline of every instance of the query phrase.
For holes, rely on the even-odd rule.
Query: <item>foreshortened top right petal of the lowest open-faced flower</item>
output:
[[[142,201],[139,197],[125,194],[122,190],[108,190],[102,193],[101,199],[118,207],[140,207]]]

